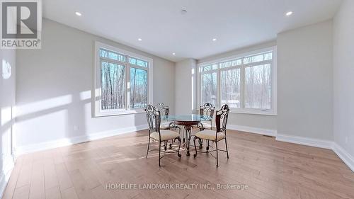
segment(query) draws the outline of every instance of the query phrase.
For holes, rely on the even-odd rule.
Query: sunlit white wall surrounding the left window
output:
[[[169,104],[174,112],[173,62],[44,19],[42,49],[18,50],[17,55],[18,153],[78,142],[97,137],[98,132],[114,135],[147,124],[144,113],[91,117],[96,40],[154,59],[154,103]]]

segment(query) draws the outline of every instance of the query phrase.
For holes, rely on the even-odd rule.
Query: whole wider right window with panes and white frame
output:
[[[198,64],[200,105],[276,115],[276,47]]]

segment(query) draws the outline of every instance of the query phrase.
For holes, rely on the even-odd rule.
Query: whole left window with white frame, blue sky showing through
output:
[[[143,113],[152,103],[152,59],[96,42],[95,115]]]

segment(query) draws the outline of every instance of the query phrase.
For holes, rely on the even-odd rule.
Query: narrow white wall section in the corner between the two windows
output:
[[[175,109],[178,115],[191,114],[195,110],[197,96],[196,69],[197,61],[195,59],[185,59],[176,63]]]

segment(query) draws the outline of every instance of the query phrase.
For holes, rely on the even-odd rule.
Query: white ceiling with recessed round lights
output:
[[[176,62],[274,40],[282,31],[332,18],[340,4],[341,0],[44,0],[43,13]],[[181,14],[182,9],[188,13]],[[292,16],[285,16],[287,11],[293,11]]]

